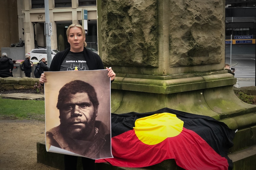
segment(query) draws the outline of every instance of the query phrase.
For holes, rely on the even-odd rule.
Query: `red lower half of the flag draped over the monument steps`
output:
[[[227,159],[216,153],[205,140],[192,130],[183,128],[175,136],[156,145],[146,145],[135,135],[134,129],[112,137],[114,158],[95,162],[109,162],[113,166],[146,167],[166,159],[189,170],[227,170]]]

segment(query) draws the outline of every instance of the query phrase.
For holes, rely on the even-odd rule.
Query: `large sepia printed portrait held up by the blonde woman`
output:
[[[44,74],[46,150],[112,158],[108,70]]]

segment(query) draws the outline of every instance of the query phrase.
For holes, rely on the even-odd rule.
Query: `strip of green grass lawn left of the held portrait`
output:
[[[0,117],[45,121],[45,101],[0,98]]]

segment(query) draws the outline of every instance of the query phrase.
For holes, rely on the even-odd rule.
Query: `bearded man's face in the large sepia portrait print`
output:
[[[86,140],[94,136],[97,108],[94,108],[88,93],[67,95],[59,111],[61,127],[67,136],[78,140]]]

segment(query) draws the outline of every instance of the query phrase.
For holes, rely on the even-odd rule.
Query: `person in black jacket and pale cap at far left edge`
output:
[[[9,57],[7,57],[6,53],[2,54],[2,58],[0,59],[0,77],[13,77],[13,61]]]

